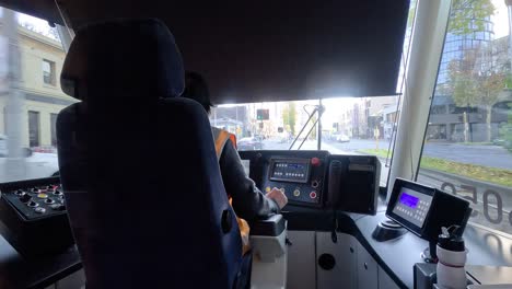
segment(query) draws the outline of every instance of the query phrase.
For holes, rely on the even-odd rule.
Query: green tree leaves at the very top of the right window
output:
[[[449,32],[457,35],[485,31],[485,19],[494,14],[491,0],[453,0]]]

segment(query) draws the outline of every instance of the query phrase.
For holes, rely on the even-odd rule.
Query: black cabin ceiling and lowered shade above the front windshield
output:
[[[163,20],[218,104],[396,94],[409,8],[408,0],[57,1],[74,30]],[[0,4],[62,23],[55,0]]]

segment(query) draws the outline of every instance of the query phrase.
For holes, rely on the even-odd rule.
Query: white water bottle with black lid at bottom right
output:
[[[463,238],[458,234],[459,227],[452,226],[450,229],[441,228],[439,235],[438,254],[438,287],[451,289],[464,289],[467,287],[466,264],[467,250]]]

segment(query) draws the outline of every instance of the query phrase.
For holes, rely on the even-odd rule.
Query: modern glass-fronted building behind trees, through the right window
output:
[[[477,13],[473,13],[476,15]],[[443,90],[450,81],[450,63],[461,61],[468,51],[480,51],[477,65],[481,69],[489,67],[510,71],[509,36],[494,39],[494,24],[490,18],[472,19],[468,21],[470,32],[446,34],[442,59],[439,68],[438,88],[432,101],[427,139],[462,142],[465,137],[465,122],[467,118],[467,140],[470,142],[487,141],[487,109],[473,105],[459,107],[452,95]],[[477,25],[480,23],[481,25]],[[509,68],[503,67],[509,66]],[[508,103],[512,102],[511,92],[503,90],[499,102],[491,111],[491,140],[499,136],[499,127],[507,122]]]

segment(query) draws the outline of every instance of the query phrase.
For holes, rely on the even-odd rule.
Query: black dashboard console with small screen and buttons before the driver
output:
[[[374,215],[381,164],[375,157],[327,151],[241,151],[251,178],[263,192],[274,187],[290,206]]]

